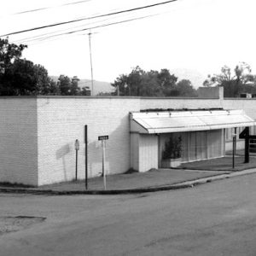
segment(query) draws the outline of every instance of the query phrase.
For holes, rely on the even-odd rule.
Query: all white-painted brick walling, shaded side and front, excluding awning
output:
[[[72,179],[77,138],[79,178],[84,178],[84,125],[89,132],[89,177],[102,172],[101,135],[109,136],[107,172],[127,171],[129,112],[146,108],[244,109],[256,119],[254,99],[1,97],[0,182],[41,185]]]

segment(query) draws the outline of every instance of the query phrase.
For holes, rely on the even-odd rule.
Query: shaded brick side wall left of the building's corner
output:
[[[0,182],[38,185],[37,101],[0,100]]]

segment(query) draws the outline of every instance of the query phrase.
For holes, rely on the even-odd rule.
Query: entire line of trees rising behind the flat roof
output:
[[[86,96],[88,87],[79,87],[79,78],[61,74],[56,80],[48,71],[32,61],[21,58],[25,44],[10,44],[8,38],[0,38],[0,96]],[[134,67],[131,73],[121,74],[113,83],[113,93],[99,95],[112,96],[197,96],[193,84],[188,79],[178,80],[166,68],[144,71]],[[219,74],[209,75],[203,86],[224,86],[224,97],[237,97],[241,93],[256,94],[256,75],[251,67],[241,62],[232,70],[224,66]]]

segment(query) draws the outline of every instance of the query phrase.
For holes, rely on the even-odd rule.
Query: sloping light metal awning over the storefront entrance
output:
[[[131,132],[169,133],[253,126],[243,110],[171,111],[131,113]]]

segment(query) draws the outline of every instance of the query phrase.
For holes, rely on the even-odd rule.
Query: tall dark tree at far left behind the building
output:
[[[45,95],[54,89],[43,66],[20,58],[25,48],[26,45],[9,44],[8,38],[0,38],[1,96]]]

